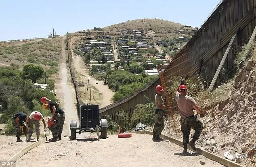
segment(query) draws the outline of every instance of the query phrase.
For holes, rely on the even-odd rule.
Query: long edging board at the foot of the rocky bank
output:
[[[141,130],[141,131],[133,131],[133,132],[130,132],[130,133],[136,133],[136,134],[151,134],[153,135],[153,132],[150,132],[150,131],[147,131],[147,130]],[[176,140],[174,138],[171,138],[169,136],[166,136],[166,135],[163,135],[161,134],[162,138],[166,139],[166,140],[169,140],[170,142],[173,142],[179,146],[182,146],[183,147],[183,144],[182,142],[180,142],[179,140]],[[188,145],[188,149],[193,151],[193,149]],[[200,155],[203,155],[204,157],[207,157],[208,159],[211,159],[213,161],[216,161],[222,165],[225,165],[227,167],[245,167],[243,165],[239,165],[238,163],[234,163],[232,161],[229,161],[228,159],[225,159],[225,158],[222,158],[222,157],[219,157],[218,155],[214,155],[212,153],[209,153],[207,151],[204,151],[204,150],[201,150],[200,148],[196,148],[196,151],[193,151],[195,153],[198,153]]]

